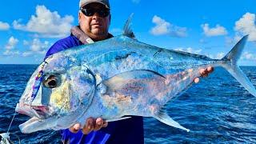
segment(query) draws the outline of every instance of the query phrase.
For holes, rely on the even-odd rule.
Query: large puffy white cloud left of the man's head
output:
[[[34,32],[40,37],[60,38],[70,33],[73,21],[73,16],[62,18],[57,11],[51,12],[46,6],[36,6],[36,14],[31,16],[29,22],[24,25],[20,23],[21,20],[15,20],[13,26],[16,30]]]

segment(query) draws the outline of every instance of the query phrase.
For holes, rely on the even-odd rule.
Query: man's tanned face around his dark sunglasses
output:
[[[81,10],[79,11],[78,19],[81,30],[90,38],[94,39],[94,41],[106,39],[110,26],[110,14],[104,17],[97,12],[98,10],[107,10],[106,7],[100,3],[90,3],[83,8],[93,13],[86,16]]]

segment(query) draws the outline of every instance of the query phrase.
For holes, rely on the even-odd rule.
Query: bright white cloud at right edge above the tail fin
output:
[[[255,25],[255,14],[246,13],[235,22],[234,30],[237,31],[238,35],[250,34],[248,40],[256,41],[256,25]]]

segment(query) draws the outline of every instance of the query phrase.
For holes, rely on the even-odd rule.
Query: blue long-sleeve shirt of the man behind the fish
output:
[[[55,42],[46,53],[46,58],[58,53],[59,51],[70,49],[74,46],[83,45],[74,35],[63,38]],[[117,122],[109,122],[108,126],[98,131],[92,131],[90,134],[82,134],[79,130],[73,134],[70,130],[61,130],[62,141],[74,143],[144,143],[143,119],[142,117],[133,116]]]

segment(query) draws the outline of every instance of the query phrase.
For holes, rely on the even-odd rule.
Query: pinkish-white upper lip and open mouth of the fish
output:
[[[50,116],[48,106],[31,106],[22,102],[17,103],[15,111],[19,114],[25,114],[30,118],[46,119]]]

